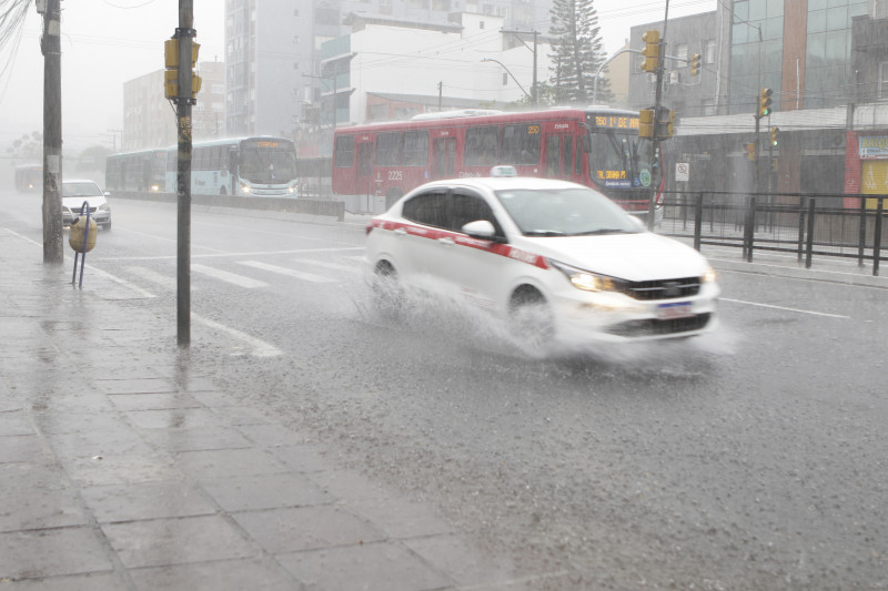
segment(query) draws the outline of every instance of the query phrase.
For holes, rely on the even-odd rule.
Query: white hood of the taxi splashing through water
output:
[[[628,281],[696,277],[708,263],[697,251],[652,232],[575,237],[523,237],[522,246],[584,271]],[[518,246],[518,244],[515,244]]]

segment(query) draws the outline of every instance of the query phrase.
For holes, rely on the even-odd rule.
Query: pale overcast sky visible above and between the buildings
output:
[[[123,126],[123,82],[163,68],[163,41],[173,35],[179,24],[179,1],[62,0],[61,6],[65,146],[111,147],[112,130]],[[594,0],[594,6],[609,54],[623,45],[630,27],[662,20],[666,0]],[[669,17],[715,7],[716,0],[670,0]],[[194,0],[199,61],[224,59],[223,12],[224,0]],[[546,23],[539,27],[544,29]],[[3,152],[14,137],[43,130],[41,30],[41,17],[31,8],[14,61],[0,75]],[[0,60],[6,63],[11,52],[11,47],[2,48]]]

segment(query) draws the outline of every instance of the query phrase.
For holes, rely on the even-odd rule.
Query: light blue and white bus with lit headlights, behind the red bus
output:
[[[178,150],[167,153],[167,192],[176,192]],[[273,136],[195,142],[191,149],[194,195],[296,196],[296,147]]]

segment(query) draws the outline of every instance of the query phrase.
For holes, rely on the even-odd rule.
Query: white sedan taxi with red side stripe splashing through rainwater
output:
[[[703,255],[564,181],[437,181],[367,226],[377,302],[405,292],[470,300],[522,337],[627,342],[712,330],[719,288]]]

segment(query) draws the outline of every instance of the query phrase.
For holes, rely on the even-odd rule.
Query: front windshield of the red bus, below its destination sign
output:
[[[591,137],[589,174],[607,188],[649,187],[650,140],[620,130],[595,130]]]

